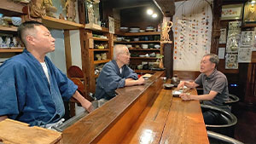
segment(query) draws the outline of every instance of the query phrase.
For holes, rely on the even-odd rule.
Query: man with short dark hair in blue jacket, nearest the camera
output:
[[[12,118],[43,127],[57,123],[65,113],[63,100],[72,96],[91,112],[90,101],[46,56],[55,50],[49,30],[27,21],[19,26],[18,35],[26,49],[0,66],[0,121]]]

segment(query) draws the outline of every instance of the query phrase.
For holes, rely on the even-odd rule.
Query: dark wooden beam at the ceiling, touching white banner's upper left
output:
[[[153,0],[155,5],[166,17],[172,17],[175,14],[174,0]]]

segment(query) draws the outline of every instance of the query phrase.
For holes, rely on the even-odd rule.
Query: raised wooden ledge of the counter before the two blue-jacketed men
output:
[[[138,101],[138,98],[143,94],[148,95],[148,93],[150,93],[150,95],[155,95],[155,89],[158,89],[158,86],[155,86],[155,84],[160,83],[159,85],[161,85],[162,82],[160,80],[160,76],[162,76],[163,73],[164,72],[155,72],[144,85],[117,89],[116,92],[119,95],[115,96],[111,101],[108,101],[102,107],[96,109],[94,112],[91,112],[86,117],[81,118],[77,123],[71,125],[62,132],[64,143],[96,143],[99,141],[99,139],[104,137],[103,135],[109,133],[109,131],[115,131],[109,129],[116,127],[115,125],[118,121],[120,126],[122,125],[120,129],[118,128],[120,132],[126,132],[126,129],[131,129],[130,124],[128,125],[127,122],[123,122],[123,119],[125,118],[124,115],[127,112],[128,114],[131,114],[129,113],[132,112],[131,106],[133,106],[134,103],[137,103],[136,101]],[[137,108],[135,111],[137,112],[135,114],[137,116],[126,119],[130,120],[130,122],[136,122],[137,117],[141,112],[143,112],[143,109],[149,100],[150,99],[143,102],[142,106]],[[126,125],[123,125],[124,123]],[[120,141],[119,139],[122,139],[121,135],[124,134],[113,135],[114,139],[112,140]]]

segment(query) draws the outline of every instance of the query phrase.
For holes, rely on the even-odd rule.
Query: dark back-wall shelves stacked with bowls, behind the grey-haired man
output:
[[[157,36],[157,38],[155,37]],[[122,44],[129,44],[132,45],[132,48],[129,48],[129,51],[131,53],[131,62],[130,67],[135,70],[137,73],[154,73],[154,71],[151,70],[138,70],[137,66],[142,65],[143,62],[155,62],[157,60],[156,57],[141,57],[139,55],[150,55],[152,53],[156,54],[163,54],[162,44],[160,43],[160,32],[117,32],[116,37],[125,37],[124,41],[117,41],[114,40],[113,43],[122,43]],[[134,37],[139,37],[140,41],[132,41]],[[143,40],[142,37],[147,37],[148,40]],[[150,38],[149,38],[150,37]],[[127,42],[127,38],[130,39],[129,42]],[[115,38],[116,39],[116,38]],[[145,39],[145,38],[144,38]],[[160,49],[142,49],[142,44],[159,44]],[[139,45],[140,48],[136,48]],[[148,45],[149,47],[149,45]],[[148,66],[149,67],[149,66]]]

